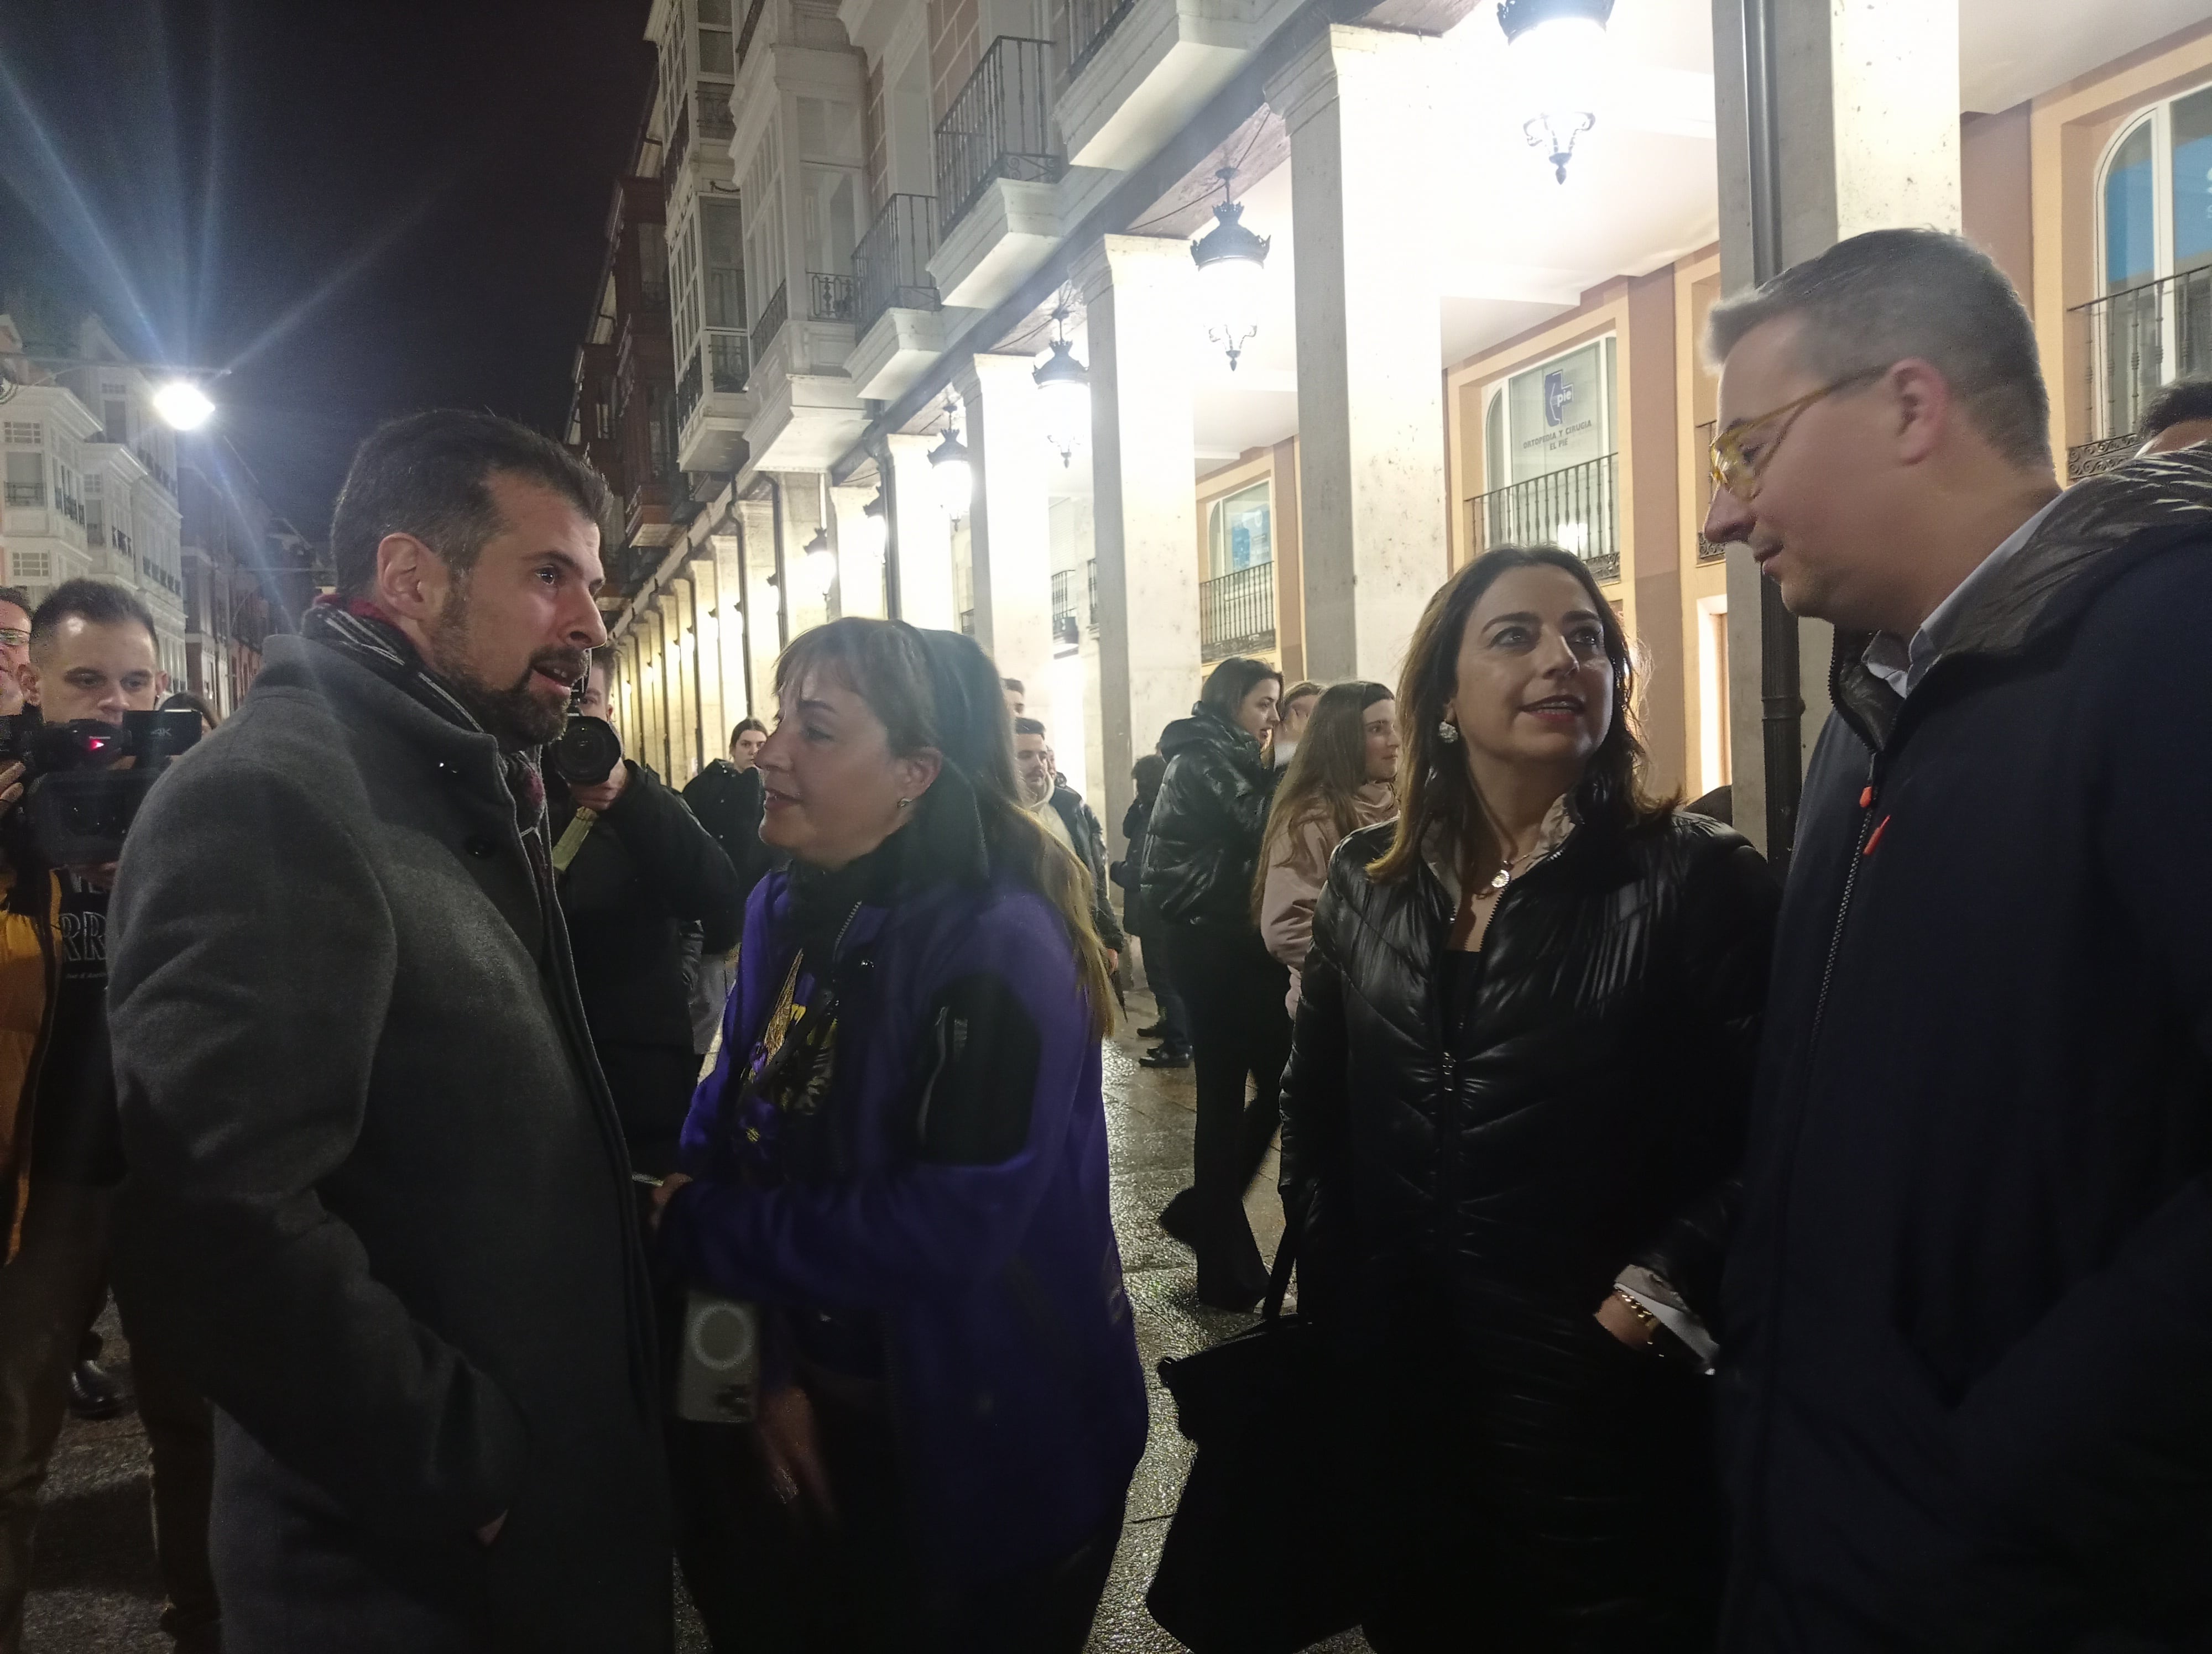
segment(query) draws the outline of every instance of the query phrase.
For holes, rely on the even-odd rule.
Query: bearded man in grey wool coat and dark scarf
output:
[[[376,431],[338,601],[126,840],[115,1285],[219,1409],[230,1654],[670,1641],[650,1298],[533,752],[606,641],[604,513],[504,420]]]

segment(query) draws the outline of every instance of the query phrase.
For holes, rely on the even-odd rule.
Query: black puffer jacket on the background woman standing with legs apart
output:
[[[1144,840],[1144,904],[1168,924],[1252,931],[1252,873],[1281,772],[1199,701],[1159,736],[1168,772]]]

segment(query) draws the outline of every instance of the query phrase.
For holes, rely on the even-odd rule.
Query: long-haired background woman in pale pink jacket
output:
[[[1336,683],[1321,694],[1305,739],[1267,812],[1252,915],[1267,951],[1290,969],[1290,1015],[1314,942],[1314,902],[1329,856],[1360,827],[1398,814],[1398,701],[1385,683]]]

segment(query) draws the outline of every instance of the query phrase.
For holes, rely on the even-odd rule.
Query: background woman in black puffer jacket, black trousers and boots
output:
[[[1252,922],[1252,871],[1281,774],[1261,741],[1281,697],[1283,677],[1265,661],[1230,657],[1212,670],[1190,716],[1159,736],[1168,774],[1144,845],[1144,904],[1183,995],[1199,1088],[1192,1187],[1159,1223],[1197,1247],[1199,1302],[1214,1309],[1250,1309],[1267,1289],[1243,1192],[1274,1141],[1290,1057],[1290,973]],[[1250,1106],[1245,1077],[1256,1086]]]

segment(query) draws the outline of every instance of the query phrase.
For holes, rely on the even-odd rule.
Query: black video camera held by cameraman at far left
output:
[[[24,767],[31,842],[53,867],[113,862],[170,761],[199,743],[199,714],[124,712],[46,723],[38,708],[0,716],[0,765]],[[126,763],[128,761],[128,763]]]

